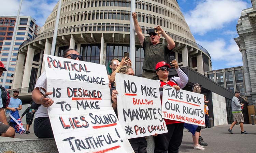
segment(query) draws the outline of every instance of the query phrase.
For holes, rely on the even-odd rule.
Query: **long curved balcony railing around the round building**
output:
[[[103,29],[104,30],[101,30]],[[99,29],[99,30],[98,30]],[[143,33],[147,33],[147,29],[145,28],[141,28]],[[130,27],[129,26],[123,26],[123,25],[119,25],[119,24],[105,24],[105,25],[88,25],[88,26],[80,26],[80,27],[71,27],[71,28],[64,28],[64,29],[58,29],[57,34],[65,34],[65,33],[72,33],[72,32],[86,32],[86,31],[119,31],[119,32],[130,32]],[[25,40],[20,46],[19,46],[19,50],[25,46],[26,44],[28,44],[29,42],[36,40],[36,39],[40,39],[40,38],[44,38],[44,37],[49,37],[49,36],[53,36],[54,30],[52,31],[47,31],[41,34],[38,34],[36,36],[33,36],[27,40]],[[183,38],[181,36],[175,35],[175,34],[170,34],[169,36],[174,39],[174,40],[180,40],[183,41],[184,43],[190,44],[194,47],[197,47],[198,49],[200,49],[201,51],[203,51],[205,54],[207,54],[210,58],[211,55],[208,53],[208,51],[206,49],[204,49],[202,46],[200,46],[199,44],[197,44],[194,41],[191,41],[189,39]]]

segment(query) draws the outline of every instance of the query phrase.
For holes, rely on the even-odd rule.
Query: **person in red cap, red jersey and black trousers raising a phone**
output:
[[[179,77],[168,78],[171,66],[164,61],[158,62],[156,64],[155,70],[159,78],[159,86],[163,87],[167,85],[172,86],[176,90],[180,90],[187,84],[188,77],[179,68],[176,60],[173,60],[171,65],[176,69]],[[162,103],[162,97],[160,98]],[[168,153],[178,153],[182,142],[184,123],[168,119],[165,119],[165,123],[168,129],[168,133],[159,134],[154,137],[154,153],[167,153],[167,151]]]

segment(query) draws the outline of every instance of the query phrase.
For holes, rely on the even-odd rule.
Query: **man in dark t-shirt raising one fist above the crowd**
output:
[[[155,66],[160,61],[169,62],[169,53],[175,47],[175,43],[160,26],[155,27],[153,31],[149,30],[150,42],[146,41],[136,17],[137,13],[132,12],[134,28],[144,50],[142,77],[157,80]],[[160,34],[165,38],[167,43],[162,44],[159,42]]]

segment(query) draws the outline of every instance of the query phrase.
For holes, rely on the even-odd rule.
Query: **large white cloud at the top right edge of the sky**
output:
[[[238,20],[241,11],[248,6],[249,4],[242,0],[202,0],[194,10],[188,11],[184,16],[193,33],[204,35]]]

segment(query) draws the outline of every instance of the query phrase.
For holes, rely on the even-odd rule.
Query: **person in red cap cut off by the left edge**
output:
[[[3,71],[6,71],[3,63],[0,61],[0,77],[3,74]],[[6,116],[3,110],[3,101],[2,101],[2,91],[0,90],[0,136],[2,137],[14,137],[15,130],[8,125]]]

